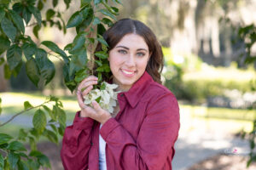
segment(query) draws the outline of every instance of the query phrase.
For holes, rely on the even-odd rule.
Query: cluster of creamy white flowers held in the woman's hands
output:
[[[101,89],[93,89],[84,96],[84,104],[92,106],[91,102],[96,100],[102,109],[113,114],[113,107],[116,106],[117,94],[119,93],[113,91],[115,88],[118,88],[118,85],[102,82]]]

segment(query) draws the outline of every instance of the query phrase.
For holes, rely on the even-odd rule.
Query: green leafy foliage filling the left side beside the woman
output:
[[[80,8],[74,11],[66,22],[56,7],[59,1],[53,0],[51,8],[45,8],[45,0],[3,0],[0,2],[0,65],[4,67],[4,77],[16,77],[22,65],[26,67],[26,75],[38,88],[44,87],[55,77],[55,64],[49,59],[49,54],[61,59],[63,76],[67,88],[72,92],[84,77],[93,72],[88,66],[92,59],[96,43],[102,43],[102,51],[96,53],[95,62],[97,74],[101,81],[102,75],[108,73],[108,43],[102,38],[105,26],[111,26],[112,20],[119,9],[110,6],[108,0],[81,0]],[[66,8],[71,0],[64,0]],[[113,0],[112,3],[120,3]],[[42,10],[46,10],[42,16]],[[49,26],[56,26],[64,33],[67,28],[76,28],[77,36],[72,43],[63,49],[55,42],[44,41],[39,44],[26,35],[26,28],[33,26],[33,34],[38,37],[39,30]],[[46,49],[49,50],[46,50]],[[67,52],[68,53],[67,53]],[[24,57],[23,57],[24,56]],[[0,100],[1,101],[1,100]],[[53,104],[50,109],[46,104]],[[50,168],[49,159],[37,150],[37,142],[41,136],[49,141],[58,143],[58,134],[63,135],[66,127],[66,113],[61,101],[50,96],[42,105],[32,106],[28,101],[24,103],[24,111],[15,116],[37,109],[33,114],[32,129],[20,129],[18,137],[0,133],[0,169],[39,169]],[[0,102],[0,112],[2,111]],[[47,119],[48,115],[50,119]],[[0,127],[11,122],[0,124]],[[29,142],[31,151],[28,153],[24,143]]]

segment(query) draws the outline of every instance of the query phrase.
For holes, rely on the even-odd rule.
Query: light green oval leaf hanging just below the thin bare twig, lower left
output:
[[[46,126],[47,120],[44,114],[44,111],[38,110],[36,111],[35,115],[33,116],[33,126],[38,131],[38,133],[43,133],[44,128]]]

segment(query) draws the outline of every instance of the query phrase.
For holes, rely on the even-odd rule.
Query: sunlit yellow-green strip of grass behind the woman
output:
[[[0,94],[3,101],[3,115],[15,115],[20,111],[23,111],[23,102],[28,100],[32,105],[41,104],[44,102],[45,97],[40,94],[22,94],[22,93],[4,93]],[[64,105],[64,111],[67,113],[67,121],[72,122],[76,111],[79,111],[79,105],[75,97],[61,97],[61,101]],[[226,108],[207,108],[200,105],[180,105],[181,117],[184,114],[189,114],[193,118],[200,118],[206,121],[209,120],[219,120],[223,122],[224,120],[233,120],[236,123],[241,121],[250,125],[254,117],[256,117],[256,111],[247,110],[237,110],[237,109],[226,109]],[[33,110],[28,111],[24,114],[33,115]],[[1,120],[1,116],[0,116]],[[234,124],[236,124],[234,123]],[[7,124],[4,127],[0,127],[0,133],[9,133],[11,135],[17,136],[21,126],[14,124]],[[44,139],[43,139],[44,140]]]

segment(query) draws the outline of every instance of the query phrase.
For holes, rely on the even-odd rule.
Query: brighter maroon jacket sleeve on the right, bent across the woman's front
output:
[[[100,133],[111,153],[108,161],[116,162],[116,169],[160,170],[167,159],[172,161],[179,127],[177,99],[166,94],[148,104],[137,140],[113,118],[103,124]]]

